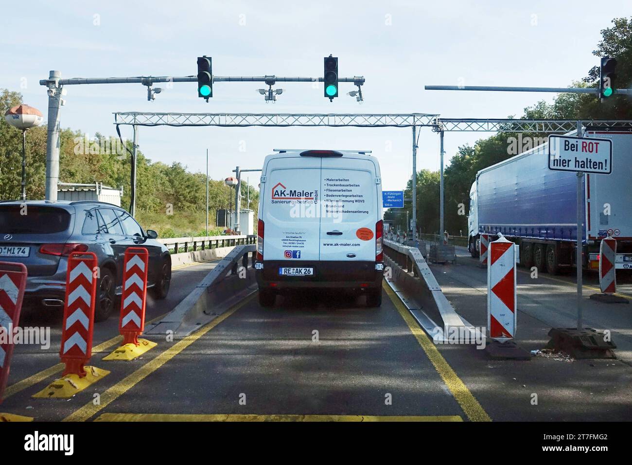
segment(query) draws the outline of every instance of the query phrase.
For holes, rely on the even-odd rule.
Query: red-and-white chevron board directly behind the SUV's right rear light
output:
[[[66,364],[62,376],[75,374],[83,378],[92,356],[92,331],[94,329],[94,302],[97,278],[94,270],[97,256],[92,252],[72,252],[68,257],[66,274],[66,299],[64,321],[61,330],[59,357]]]

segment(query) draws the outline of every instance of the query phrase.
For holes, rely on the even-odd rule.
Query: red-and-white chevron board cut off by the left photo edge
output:
[[[9,366],[13,354],[13,328],[18,326],[20,321],[26,285],[26,266],[0,261],[0,334],[3,336],[0,338],[0,402],[6,381],[9,379]]]

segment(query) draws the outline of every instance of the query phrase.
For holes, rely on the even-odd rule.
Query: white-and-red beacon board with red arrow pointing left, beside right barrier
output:
[[[516,335],[516,245],[502,236],[489,244],[487,328],[503,342]]]

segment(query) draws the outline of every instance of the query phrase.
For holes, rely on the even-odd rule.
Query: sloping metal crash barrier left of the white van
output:
[[[236,245],[200,284],[145,334],[185,337],[257,291],[256,244]],[[248,255],[250,254],[250,256]]]

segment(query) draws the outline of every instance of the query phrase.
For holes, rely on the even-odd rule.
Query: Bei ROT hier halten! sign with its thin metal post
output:
[[[612,173],[612,140],[581,137],[581,121],[577,121],[577,136],[549,135],[549,170],[577,173],[577,329],[581,330],[582,236],[584,212],[584,173]]]

